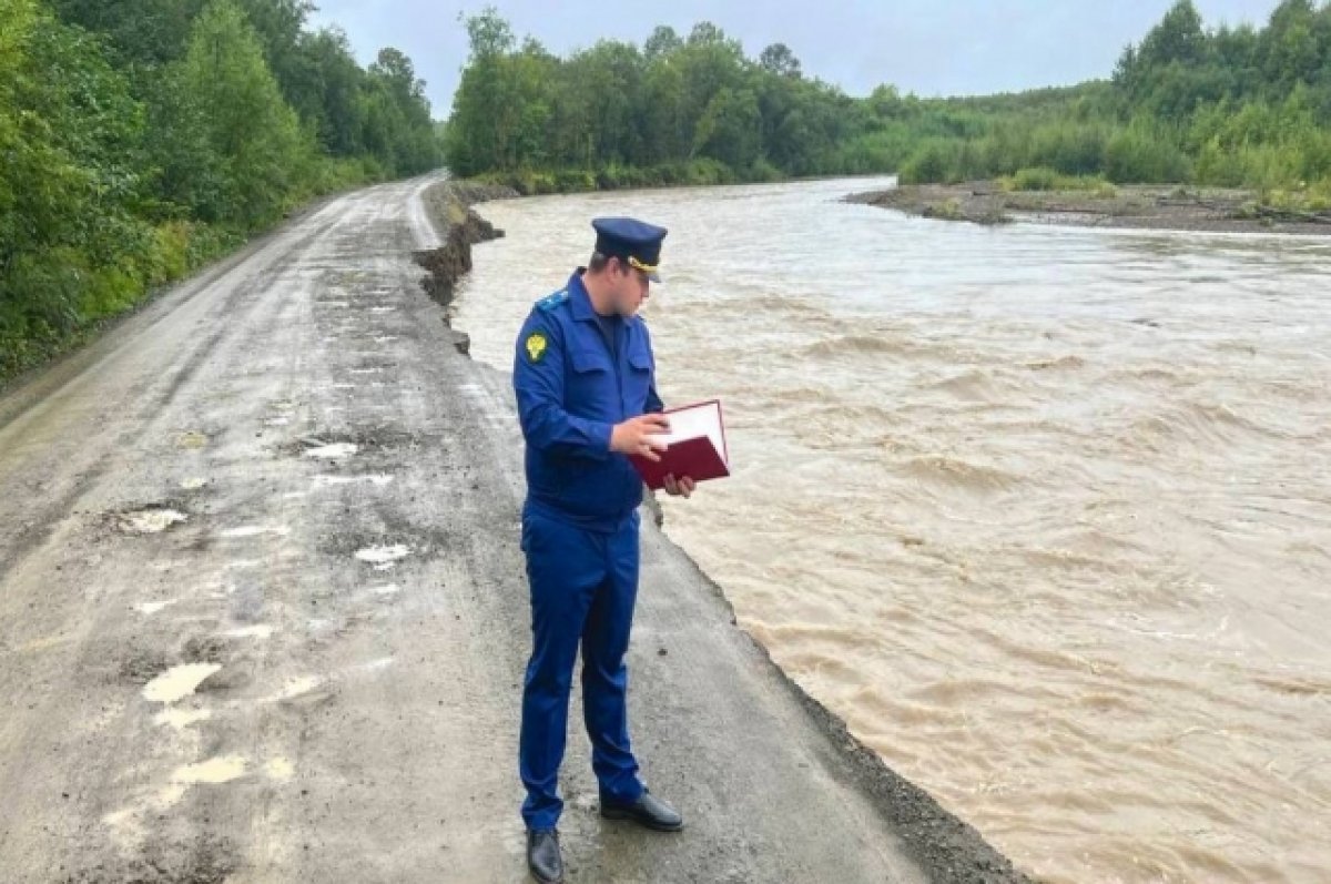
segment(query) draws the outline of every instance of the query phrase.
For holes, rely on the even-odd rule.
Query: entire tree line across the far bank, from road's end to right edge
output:
[[[567,57],[519,41],[492,8],[446,132],[449,165],[519,189],[764,181],[898,172],[1199,182],[1331,200],[1331,3],[1284,0],[1270,23],[1207,31],[1181,0],[1113,79],[977,99],[866,97],[809,77],[791,49],[756,59],[720,28],[656,28],[640,47]]]

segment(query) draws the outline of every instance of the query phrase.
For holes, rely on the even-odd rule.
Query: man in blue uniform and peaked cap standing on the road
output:
[[[588,266],[536,302],[518,335],[512,373],[527,441],[522,549],[532,631],[519,768],[527,863],[540,881],[563,879],[558,779],[579,646],[602,816],[659,831],[683,827],[638,779],[624,706],[643,499],[628,455],[658,459],[656,437],[669,427],[638,309],[659,281],[666,230],[632,218],[598,218],[592,226]],[[671,478],[666,490],[688,497],[693,483]]]

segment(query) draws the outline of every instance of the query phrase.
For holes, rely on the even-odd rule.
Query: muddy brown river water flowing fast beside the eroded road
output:
[[[591,217],[664,224],[662,391],[735,469],[667,531],[793,678],[1037,876],[1331,880],[1331,241],[882,184],[488,204],[457,325],[507,369]]]

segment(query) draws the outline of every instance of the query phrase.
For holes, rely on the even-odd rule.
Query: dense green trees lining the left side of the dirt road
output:
[[[0,0],[0,381],[311,196],[442,161],[306,0]]]

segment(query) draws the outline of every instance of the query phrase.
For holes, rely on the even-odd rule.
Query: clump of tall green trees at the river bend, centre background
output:
[[[715,184],[868,172],[873,108],[807,77],[775,44],[748,59],[711,23],[602,40],[558,57],[492,8],[465,20],[471,55],[446,132],[449,168],[524,190]]]

